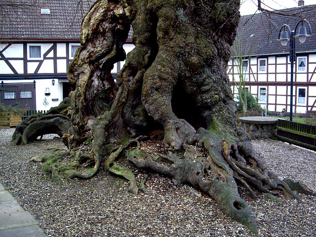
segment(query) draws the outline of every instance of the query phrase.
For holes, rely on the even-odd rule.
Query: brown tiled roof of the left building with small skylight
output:
[[[92,0],[18,0],[17,2],[21,7],[1,9],[1,39],[79,40],[81,20],[93,4]],[[41,12],[41,9],[44,9],[44,12]]]

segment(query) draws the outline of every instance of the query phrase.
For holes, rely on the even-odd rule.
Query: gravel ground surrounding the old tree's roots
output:
[[[128,183],[107,172],[90,180],[52,182],[30,158],[58,147],[52,136],[22,146],[10,142],[14,129],[0,129],[0,183],[39,221],[48,237],[254,237],[225,216],[214,200],[194,188],[176,188],[169,178],[150,173],[150,195],[134,196]],[[316,153],[269,140],[254,141],[270,167],[316,191]],[[137,178],[143,177],[139,172]],[[315,237],[316,197],[276,202],[243,198],[257,213],[262,237]]]

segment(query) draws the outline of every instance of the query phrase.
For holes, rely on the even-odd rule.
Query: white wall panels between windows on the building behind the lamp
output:
[[[297,57],[304,57],[297,55]],[[301,83],[301,85],[297,85],[293,89],[293,104],[296,106],[293,111],[296,113],[306,113],[307,109],[316,110],[315,101],[316,101],[316,86],[313,86],[312,83],[316,82],[316,54],[309,54],[307,57],[308,64],[308,72],[305,71],[297,71],[297,62],[294,66],[294,81],[295,82],[304,82]],[[250,85],[250,92],[254,96],[258,96],[258,88],[259,87],[267,87],[268,88],[268,109],[270,111],[282,111],[283,108],[286,107],[287,112],[289,112],[289,95],[290,95],[290,86],[289,86],[289,80],[290,80],[290,62],[288,56],[281,56],[281,57],[275,57],[275,56],[267,56],[267,66],[268,66],[268,73],[257,73],[258,70],[258,58],[252,57],[250,59],[250,80],[248,81],[248,85]],[[231,71],[230,71],[231,70]],[[231,85],[233,82],[233,75],[232,73],[232,60],[230,60],[229,67],[228,67],[228,75]],[[235,78],[237,79],[237,71],[234,71]],[[277,85],[271,84],[271,82],[279,82]],[[266,83],[268,82],[268,83]],[[284,82],[284,83],[282,83]],[[312,83],[309,83],[312,82]],[[306,93],[308,93],[309,98],[306,98],[306,104],[299,104],[298,103],[298,93],[296,90],[300,86],[306,87]],[[285,84],[288,84],[285,85]],[[232,86],[234,88],[234,86]],[[287,96],[286,96],[287,94]],[[237,89],[235,88],[234,96],[236,98],[237,95]],[[306,94],[307,95],[307,94]],[[262,107],[265,107],[265,102],[260,102]],[[288,105],[285,105],[285,104]],[[275,105],[276,104],[276,105]],[[307,108],[309,106],[309,108]]]

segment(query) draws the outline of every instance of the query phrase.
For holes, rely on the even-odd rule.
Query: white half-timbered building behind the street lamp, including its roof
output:
[[[312,37],[304,43],[296,39],[296,61],[293,80],[293,112],[305,114],[316,111],[316,5],[286,9],[286,11],[304,11],[311,23]],[[271,112],[290,112],[291,67],[289,44],[281,46],[278,34],[281,26],[287,24],[293,31],[298,17],[282,17],[259,13],[242,16],[238,27],[238,36],[242,38],[245,55],[242,71],[246,79],[245,86],[258,98],[263,108],[268,105]],[[297,29],[298,31],[298,29]],[[309,32],[308,32],[309,33]],[[242,51],[241,50],[241,51]],[[238,95],[234,79],[239,81],[236,55],[232,53],[229,62],[229,78],[235,97]]]

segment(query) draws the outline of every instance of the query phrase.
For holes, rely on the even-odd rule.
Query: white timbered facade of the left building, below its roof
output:
[[[68,65],[78,46],[79,43],[76,42],[0,44],[0,82],[23,84],[35,81],[36,95],[33,96],[36,98],[33,99],[36,100],[36,110],[47,111],[63,100],[63,87],[64,83],[67,83]],[[126,43],[123,48],[128,53],[134,48],[134,45]],[[32,54],[32,50],[40,52],[40,54]],[[115,75],[124,63],[116,63],[112,74]],[[54,80],[54,85],[52,80]],[[6,88],[6,90],[8,89]],[[45,94],[48,90],[50,95]],[[44,103],[45,101],[46,103]]]

